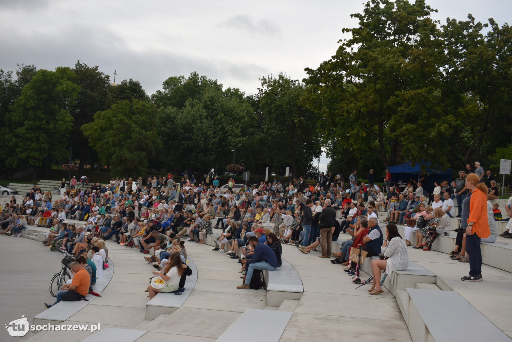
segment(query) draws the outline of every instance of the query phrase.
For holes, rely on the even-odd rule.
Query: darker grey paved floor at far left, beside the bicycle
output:
[[[33,240],[0,235],[0,317],[2,328],[25,315],[32,318],[55,302],[50,294],[53,274],[60,271],[63,256]],[[29,336],[29,335],[27,335]],[[7,329],[0,330],[0,341],[16,341]]]

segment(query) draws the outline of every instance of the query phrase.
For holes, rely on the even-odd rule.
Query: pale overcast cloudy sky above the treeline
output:
[[[0,69],[73,67],[80,60],[117,83],[133,78],[148,94],[171,77],[198,72],[225,88],[257,93],[259,79],[306,77],[331,58],[362,1],[1,0]],[[433,17],[472,13],[503,25],[510,0],[428,0]],[[321,169],[326,160],[322,158]]]

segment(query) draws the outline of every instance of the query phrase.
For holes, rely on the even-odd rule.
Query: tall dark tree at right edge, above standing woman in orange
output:
[[[512,30],[489,19],[477,23],[470,14],[462,22],[447,19],[443,29],[445,60],[440,90],[444,115],[454,118],[446,140],[454,166],[487,158],[507,146],[512,134]]]

